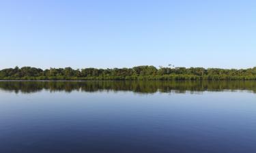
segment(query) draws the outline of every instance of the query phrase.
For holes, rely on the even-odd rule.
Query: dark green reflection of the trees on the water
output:
[[[154,92],[190,92],[223,91],[223,90],[250,90],[256,93],[255,81],[149,81],[149,82],[0,82],[1,90],[16,93],[38,92],[40,90],[65,91],[81,90],[83,92],[96,92],[100,90],[133,91],[140,93]]]

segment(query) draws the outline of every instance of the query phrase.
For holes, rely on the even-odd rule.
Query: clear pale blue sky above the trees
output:
[[[6,67],[256,66],[256,1],[0,1]]]

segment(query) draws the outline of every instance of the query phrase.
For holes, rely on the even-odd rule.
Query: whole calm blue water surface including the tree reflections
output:
[[[256,82],[0,82],[0,152],[255,153]]]

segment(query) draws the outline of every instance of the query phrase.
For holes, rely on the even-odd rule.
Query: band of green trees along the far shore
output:
[[[138,66],[114,69],[38,69],[22,67],[2,69],[0,80],[256,80],[251,69],[204,69],[202,67]]]

